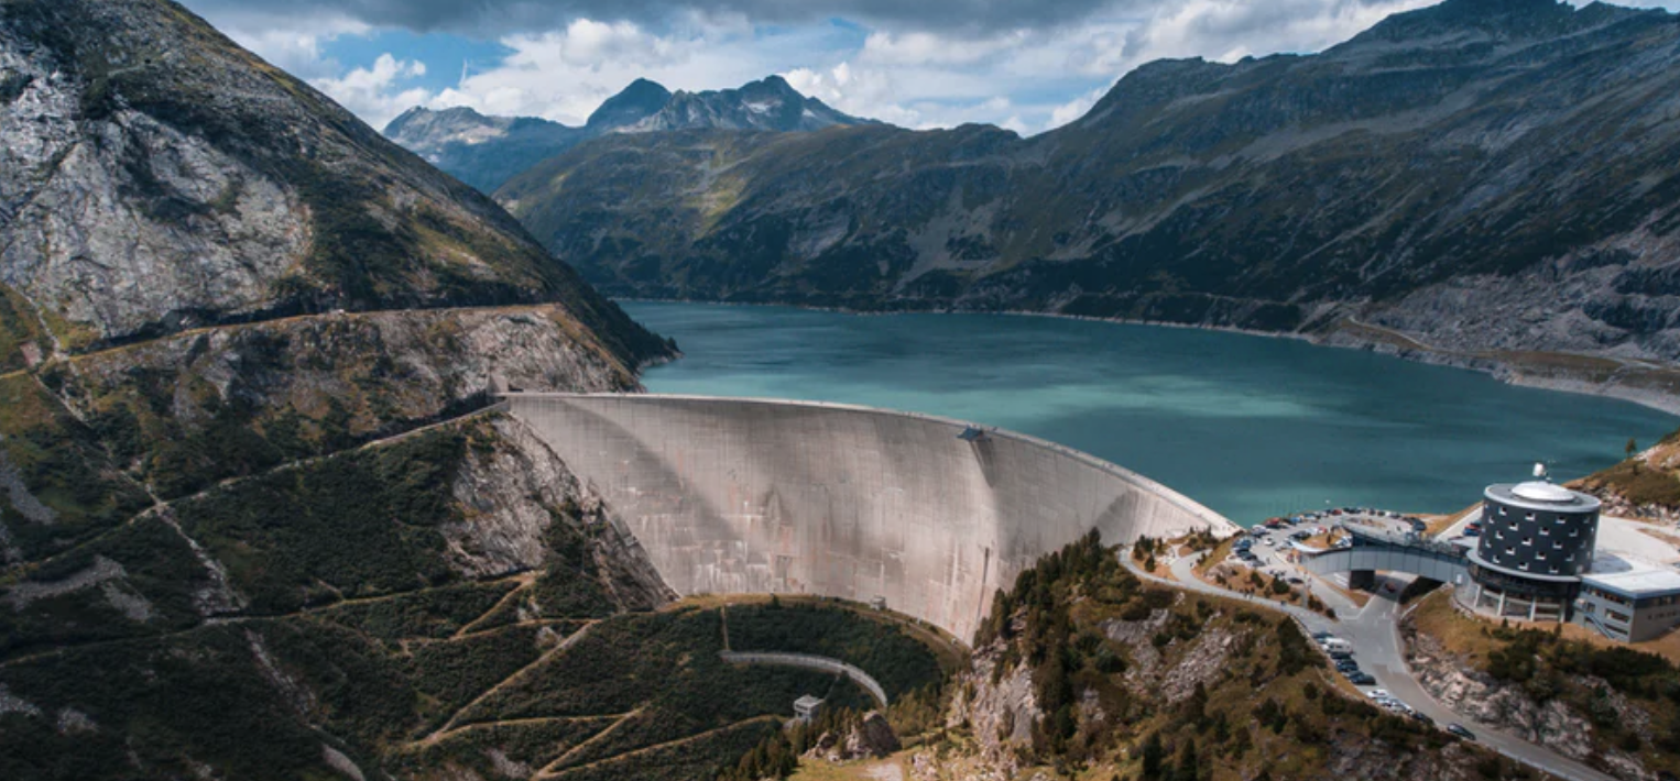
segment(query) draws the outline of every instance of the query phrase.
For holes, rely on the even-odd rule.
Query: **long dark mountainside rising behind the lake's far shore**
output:
[[[1030,139],[613,138],[497,198],[615,294],[1672,363],[1677,54],[1660,10],[1452,0],[1315,55],[1149,64]]]

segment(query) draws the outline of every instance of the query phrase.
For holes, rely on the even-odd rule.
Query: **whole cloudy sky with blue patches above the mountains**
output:
[[[637,77],[781,74],[858,116],[1032,134],[1147,60],[1312,52],[1435,0],[183,2],[376,128],[417,104],[581,124]]]

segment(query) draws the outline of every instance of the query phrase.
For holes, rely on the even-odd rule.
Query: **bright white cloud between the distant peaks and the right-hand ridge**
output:
[[[1154,59],[1235,62],[1250,54],[1320,50],[1431,2],[1188,0],[1144,12],[1116,5],[1048,30],[874,32],[843,62],[795,69],[788,81],[842,111],[912,128],[990,121],[1042,131],[1077,119],[1119,76]],[[1000,106],[995,96],[1010,101]]]

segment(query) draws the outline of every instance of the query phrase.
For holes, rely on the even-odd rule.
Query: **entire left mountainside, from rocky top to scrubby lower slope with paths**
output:
[[[166,0],[0,3],[0,776],[438,771],[672,596],[484,410],[672,351],[496,203]]]

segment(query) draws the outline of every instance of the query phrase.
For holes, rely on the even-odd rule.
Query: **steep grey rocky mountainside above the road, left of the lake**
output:
[[[166,0],[7,3],[0,82],[0,286],[59,349],[536,301],[647,349],[494,203]]]

